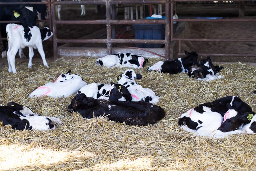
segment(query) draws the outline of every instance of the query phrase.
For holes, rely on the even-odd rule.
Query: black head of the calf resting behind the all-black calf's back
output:
[[[110,101],[115,101],[115,100],[131,101],[131,94],[124,85],[115,84],[113,82],[111,82],[110,84],[111,84],[111,88],[110,88],[110,94],[108,97]]]

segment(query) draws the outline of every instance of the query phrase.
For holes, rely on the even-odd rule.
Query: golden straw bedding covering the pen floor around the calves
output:
[[[18,61],[19,59],[16,59]],[[33,69],[27,62],[16,64],[17,74],[1,69],[0,104],[9,101],[29,106],[34,112],[59,117],[64,121],[56,130],[15,131],[0,127],[0,170],[256,170],[255,135],[232,135],[225,139],[196,137],[178,128],[181,114],[201,103],[236,95],[256,111],[256,69],[247,64],[224,64],[225,79],[198,81],[187,74],[146,72],[159,59],[149,59],[137,80],[160,96],[158,105],[166,117],[149,126],[128,126],[106,118],[83,119],[66,107],[72,95],[53,99],[28,99],[37,87],[53,82],[60,73],[79,74],[88,83],[116,82],[127,68],[107,68],[95,64],[95,58],[61,58],[42,62]]]

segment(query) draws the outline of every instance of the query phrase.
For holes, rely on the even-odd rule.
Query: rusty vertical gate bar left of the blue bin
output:
[[[106,26],[107,26],[107,53],[112,54],[112,44],[110,42],[111,37],[112,37],[112,29],[111,29],[111,15],[110,15],[110,0],[106,0]]]

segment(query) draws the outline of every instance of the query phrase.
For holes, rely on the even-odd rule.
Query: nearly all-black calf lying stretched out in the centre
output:
[[[84,118],[107,116],[111,121],[127,125],[155,124],[165,116],[165,111],[149,102],[108,101],[78,94],[68,106],[68,112],[78,112]]]

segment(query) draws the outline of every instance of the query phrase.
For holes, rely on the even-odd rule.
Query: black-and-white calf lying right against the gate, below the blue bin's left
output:
[[[126,53],[106,55],[104,57],[98,58],[96,64],[107,67],[114,66],[142,69],[145,66],[146,62],[148,62],[148,59],[145,59],[143,56]]]

